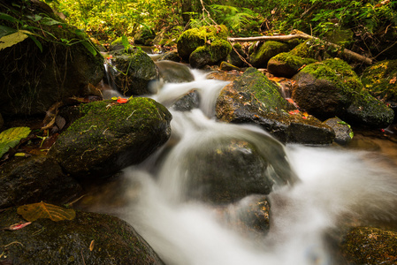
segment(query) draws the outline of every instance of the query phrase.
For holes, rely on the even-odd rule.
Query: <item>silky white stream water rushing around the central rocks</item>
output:
[[[218,123],[215,102],[225,84],[195,72],[195,81],[168,83],[158,91],[154,98],[171,107],[196,89],[201,106],[188,112],[170,109],[168,145],[144,163],[124,170],[122,206],[101,209],[131,223],[166,264],[340,264],[332,244],[349,224],[397,222],[393,163],[369,151],[284,147],[255,126]],[[288,185],[273,178],[271,225],[266,234],[241,232],[219,217],[218,207],[188,200],[186,185],[195,175],[190,166],[195,161],[186,158],[225,138],[253,143],[270,157],[273,172],[292,176],[286,179]],[[248,196],[236,204],[244,206],[249,200]]]

